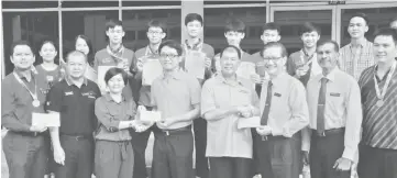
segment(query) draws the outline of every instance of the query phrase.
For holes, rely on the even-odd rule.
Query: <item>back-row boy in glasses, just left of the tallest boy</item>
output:
[[[159,59],[158,46],[166,36],[166,25],[157,20],[152,20],[147,23],[147,38],[148,45],[135,52],[133,64],[131,65],[131,73],[134,75],[134,91],[139,91],[139,105],[143,105],[151,111],[151,86],[142,85],[143,65],[150,59]],[[146,178],[146,160],[145,151],[147,141],[152,130],[145,132],[131,131],[131,143],[134,148],[134,178]]]

